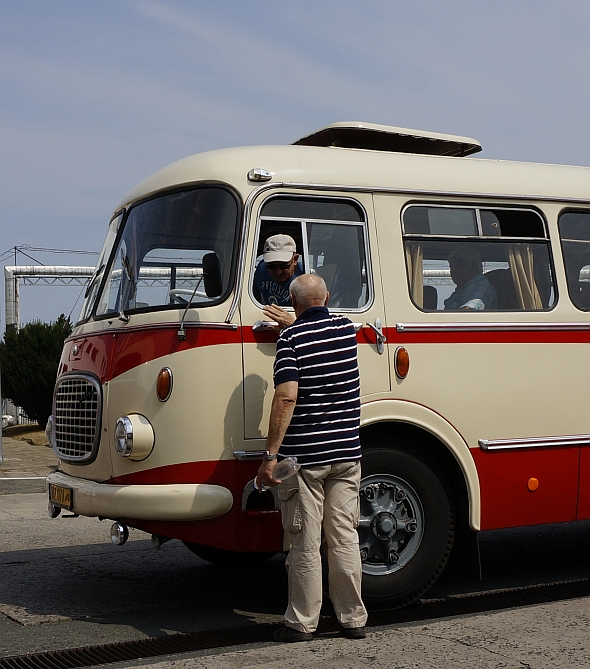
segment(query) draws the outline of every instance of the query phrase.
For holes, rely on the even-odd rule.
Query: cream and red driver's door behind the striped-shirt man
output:
[[[274,392],[278,335],[260,323],[265,317],[254,274],[264,262],[264,242],[276,234],[291,236],[303,271],[319,274],[326,281],[330,311],[355,323],[361,394],[388,392],[388,350],[379,334],[385,326],[385,309],[371,196],[272,195],[262,202],[251,228],[254,234],[241,303],[246,439],[266,437]]]

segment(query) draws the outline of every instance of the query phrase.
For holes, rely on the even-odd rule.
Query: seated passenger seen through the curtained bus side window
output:
[[[479,252],[468,246],[459,246],[449,255],[451,279],[457,286],[445,300],[445,309],[481,311],[496,309],[496,290],[482,273]]]

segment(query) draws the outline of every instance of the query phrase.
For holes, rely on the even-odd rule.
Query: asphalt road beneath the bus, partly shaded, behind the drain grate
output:
[[[43,493],[0,496],[0,656],[281,619],[281,556],[218,567],[139,531],[113,546],[110,525],[52,520]],[[590,522],[481,533],[480,551],[482,581],[443,575],[428,596],[587,578]]]

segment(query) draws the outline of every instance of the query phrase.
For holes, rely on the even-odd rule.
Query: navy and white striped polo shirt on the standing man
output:
[[[311,307],[281,332],[275,387],[287,381],[299,388],[279,455],[296,456],[303,467],[358,460],[360,377],[348,318]]]

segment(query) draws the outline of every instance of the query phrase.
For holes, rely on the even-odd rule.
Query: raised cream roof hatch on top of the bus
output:
[[[332,123],[293,144],[421,153],[429,156],[469,156],[481,151],[481,144],[469,137],[357,121]]]

